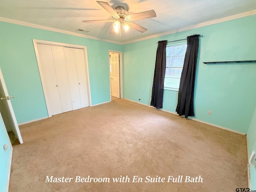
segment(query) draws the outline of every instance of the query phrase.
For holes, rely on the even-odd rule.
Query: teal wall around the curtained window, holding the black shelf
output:
[[[256,60],[256,15],[125,44],[124,98],[150,105],[159,40],[202,34],[198,52],[194,109],[198,120],[246,133],[256,106],[256,63],[203,64]],[[178,42],[176,42],[178,43]],[[140,100],[139,100],[140,99]],[[163,109],[175,112],[178,92],[164,90]],[[212,115],[207,115],[212,110]]]

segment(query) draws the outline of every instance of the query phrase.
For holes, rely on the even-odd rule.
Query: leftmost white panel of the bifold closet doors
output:
[[[42,65],[44,82],[46,84],[50,110],[52,115],[62,113],[60,95],[58,90],[58,82],[55,74],[54,60],[52,57],[52,49],[50,45],[38,44],[40,62]]]

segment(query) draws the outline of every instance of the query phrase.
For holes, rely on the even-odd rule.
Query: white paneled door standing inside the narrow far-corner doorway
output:
[[[120,98],[119,53],[110,52],[111,95]]]

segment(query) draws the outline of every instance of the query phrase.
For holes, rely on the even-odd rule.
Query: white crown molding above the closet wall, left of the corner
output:
[[[63,34],[68,34],[68,35],[73,35],[73,36],[78,36],[78,37],[84,37],[84,38],[88,38],[88,39],[105,41],[105,42],[114,43],[114,44],[120,44],[120,45],[122,44],[120,42],[111,41],[111,40],[98,38],[98,37],[93,37],[93,36],[90,36],[90,35],[78,34],[78,33],[75,33],[75,32],[56,29],[56,28],[52,28],[52,27],[46,27],[46,26],[32,24],[32,23],[23,22],[23,21],[18,21],[18,20],[14,20],[14,19],[8,19],[8,18],[4,18],[4,17],[0,17],[0,21],[7,22],[7,23],[12,23],[12,24],[17,24],[17,25],[22,25],[22,26],[27,26],[27,27],[32,27],[32,28],[38,28],[38,29],[53,31],[53,32],[58,32],[58,33],[63,33]]]

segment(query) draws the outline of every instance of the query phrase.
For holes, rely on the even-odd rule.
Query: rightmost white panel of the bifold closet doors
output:
[[[81,107],[89,106],[88,86],[86,78],[85,58],[83,49],[74,49],[76,56],[76,67],[78,75],[78,85],[81,99]]]

